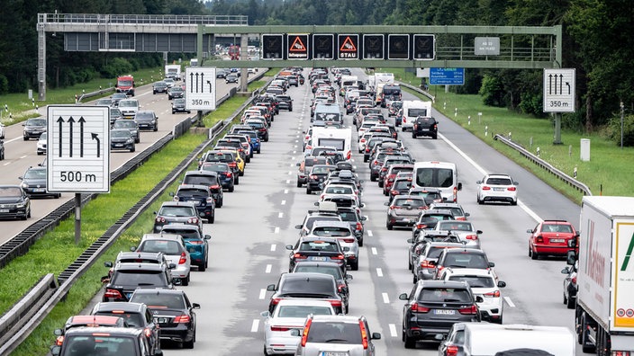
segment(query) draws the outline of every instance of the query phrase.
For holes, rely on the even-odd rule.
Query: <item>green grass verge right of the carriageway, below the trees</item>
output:
[[[413,73],[406,73],[403,69],[388,69],[394,73],[396,80],[418,85],[420,78]],[[410,93],[413,91],[406,89]],[[518,112],[508,111],[506,108],[485,106],[479,95],[464,95],[445,93],[443,85],[431,85],[430,93],[436,97],[434,107],[449,119],[469,130],[476,137],[494,147],[514,162],[527,168],[547,182],[557,191],[562,192],[571,200],[580,202],[583,194],[560,181],[557,177],[520,156],[514,149],[507,147],[493,139],[494,134],[508,136],[522,147],[536,153],[539,147],[540,157],[549,164],[556,166],[562,172],[572,176],[577,169],[577,179],[584,182],[594,195],[624,195],[634,196],[634,185],[629,184],[629,177],[634,175],[634,147],[620,149],[614,142],[602,137],[600,133],[583,134],[570,129],[562,129],[563,145],[554,145],[554,124],[550,119],[538,119]],[[421,94],[414,93],[424,100]],[[456,113],[457,109],[457,115]],[[478,116],[481,112],[482,116]],[[471,116],[471,124],[468,117]],[[439,126],[442,132],[442,123]],[[488,129],[485,136],[485,129]],[[580,158],[581,139],[591,140],[590,161],[584,162]],[[467,152],[468,154],[468,152]]]

